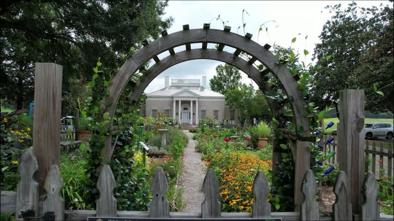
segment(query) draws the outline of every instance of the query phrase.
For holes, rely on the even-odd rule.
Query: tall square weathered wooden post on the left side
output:
[[[62,73],[61,65],[35,63],[33,152],[38,162],[40,193],[44,192],[50,167],[60,161]]]

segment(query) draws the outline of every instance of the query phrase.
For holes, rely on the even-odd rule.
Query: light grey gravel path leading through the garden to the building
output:
[[[201,153],[195,150],[197,141],[192,139],[193,133],[189,133],[189,130],[183,130],[183,132],[188,135],[189,142],[184,151],[184,169],[179,185],[185,190],[183,193],[183,202],[187,206],[185,212],[200,212],[201,203],[205,197],[201,188],[206,165],[201,161]]]

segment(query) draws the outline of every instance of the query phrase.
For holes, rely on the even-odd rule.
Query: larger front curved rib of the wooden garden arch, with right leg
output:
[[[250,34],[247,34],[246,37],[244,37],[235,33],[231,33],[229,29],[209,29],[209,24],[204,25],[203,29],[189,29],[188,26],[184,26],[184,30],[171,34],[167,34],[166,31],[163,31],[162,37],[154,40],[153,42],[149,44],[147,41],[143,42],[144,47],[129,57],[122,65],[118,73],[111,81],[111,85],[108,87],[109,96],[104,98],[101,109],[103,112],[108,112],[111,118],[113,117],[119,97],[126,84],[130,81],[131,77],[141,67],[143,67],[144,63],[150,59],[153,58],[155,62],[159,64],[162,61],[159,60],[157,55],[163,53],[164,51],[169,51],[169,53],[173,55],[174,47],[186,45],[186,49],[190,50],[190,44],[202,43],[202,48],[206,49],[207,43],[215,43],[219,44],[219,50],[223,50],[224,46],[230,46],[236,49],[234,55],[239,55],[240,52],[245,52],[248,55],[251,55],[252,58],[249,60],[249,63],[253,64],[256,60],[259,60],[267,68],[267,70],[271,72],[271,74],[278,78],[282,83],[287,96],[289,98],[292,97],[293,102],[291,103],[291,106],[296,119],[296,125],[297,128],[302,128],[302,131],[298,131],[298,133],[305,137],[309,137],[309,121],[307,117],[304,117],[304,115],[308,115],[308,111],[306,109],[303,96],[301,96],[301,93],[297,90],[298,83],[293,78],[286,66],[282,65],[280,61],[268,51],[268,49],[252,41],[250,38]],[[146,76],[148,75],[149,73],[146,74]],[[259,80],[256,82],[259,82]],[[293,146],[296,149],[293,152],[296,162],[295,204],[296,210],[299,210],[299,205],[303,200],[303,195],[300,192],[300,188],[303,175],[307,169],[309,169],[310,150],[308,141],[297,140],[295,143],[293,143]],[[112,152],[113,149],[111,145],[111,137],[109,136],[106,138],[105,146],[101,150],[101,153],[104,154],[102,161],[109,162]]]

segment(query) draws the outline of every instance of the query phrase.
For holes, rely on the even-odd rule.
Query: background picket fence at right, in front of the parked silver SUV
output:
[[[326,154],[331,151],[335,151],[335,155],[328,160],[329,163],[339,163],[339,151],[338,151],[338,137],[325,135],[323,138],[326,143],[329,137],[334,138],[331,143],[325,144],[324,151]],[[386,145],[386,148],[384,147]],[[368,171],[375,174],[375,178],[380,180],[381,175],[387,177],[394,176],[394,154],[393,154],[393,142],[384,142],[378,140],[364,140],[364,152],[365,161],[369,159]],[[382,171],[382,173],[381,173]]]

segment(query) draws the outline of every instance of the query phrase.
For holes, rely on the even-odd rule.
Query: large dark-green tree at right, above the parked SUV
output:
[[[366,110],[393,111],[393,7],[360,8],[352,2],[347,8],[326,8],[333,16],[313,55],[321,68],[312,72],[311,100],[320,107],[333,101],[337,107],[340,90],[364,89]],[[374,93],[379,88],[384,96]]]

